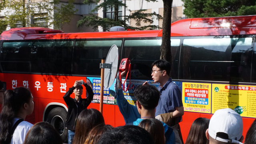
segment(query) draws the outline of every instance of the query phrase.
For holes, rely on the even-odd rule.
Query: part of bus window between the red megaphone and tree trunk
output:
[[[160,58],[161,39],[125,40],[122,58],[131,60],[132,78],[151,78],[151,64]]]

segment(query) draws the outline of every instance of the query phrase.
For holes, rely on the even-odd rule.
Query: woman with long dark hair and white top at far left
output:
[[[33,126],[24,121],[34,109],[33,96],[28,88],[6,90],[0,114],[0,144],[22,144]],[[19,124],[16,122],[20,122]],[[14,129],[13,126],[16,125]],[[12,134],[13,132],[13,134]]]

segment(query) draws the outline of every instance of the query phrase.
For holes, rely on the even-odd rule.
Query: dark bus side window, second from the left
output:
[[[32,72],[71,74],[73,41],[38,41],[32,50]]]

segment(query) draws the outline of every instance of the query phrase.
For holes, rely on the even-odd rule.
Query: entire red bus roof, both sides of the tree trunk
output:
[[[222,36],[256,34],[256,15],[188,18],[172,23],[171,36]],[[12,28],[0,40],[161,37],[162,30],[63,33],[50,28]]]

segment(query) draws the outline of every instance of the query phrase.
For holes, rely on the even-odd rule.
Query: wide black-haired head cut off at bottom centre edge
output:
[[[154,140],[144,128],[126,125],[102,134],[98,144],[154,144]]]

